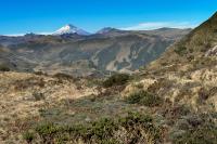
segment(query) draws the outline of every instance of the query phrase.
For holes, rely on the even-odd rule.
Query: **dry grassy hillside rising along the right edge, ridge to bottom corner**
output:
[[[169,117],[174,122],[167,125],[167,130],[170,140],[174,140],[173,143],[215,144],[217,140],[217,13],[167,49],[142,73],[137,74],[137,80],[126,87],[123,96],[130,96],[138,91],[159,95],[167,106],[169,104],[169,108],[165,105],[161,108],[166,110],[163,117],[167,120],[168,113],[171,113]],[[181,110],[179,106],[188,107],[191,113],[186,114],[183,110],[186,108]],[[161,115],[161,110],[155,113]],[[188,120],[189,118],[191,120]],[[201,122],[196,123],[196,121]],[[205,121],[210,121],[208,123],[213,126],[205,125]],[[190,123],[193,126],[189,127]]]

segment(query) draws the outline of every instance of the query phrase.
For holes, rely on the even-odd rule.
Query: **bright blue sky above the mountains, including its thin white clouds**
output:
[[[73,24],[153,29],[194,27],[217,11],[217,0],[1,0],[0,35],[51,32]]]

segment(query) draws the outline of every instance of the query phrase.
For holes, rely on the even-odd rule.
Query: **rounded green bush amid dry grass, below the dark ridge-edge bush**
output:
[[[162,103],[162,99],[146,91],[138,91],[126,97],[129,104],[141,104],[144,106],[158,106]]]

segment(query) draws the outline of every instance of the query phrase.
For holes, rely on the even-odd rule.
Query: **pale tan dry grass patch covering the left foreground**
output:
[[[14,125],[39,117],[39,109],[59,105],[64,99],[73,100],[97,92],[92,88],[77,87],[68,80],[60,82],[58,78],[48,76],[0,73],[0,143],[20,140],[18,127]]]

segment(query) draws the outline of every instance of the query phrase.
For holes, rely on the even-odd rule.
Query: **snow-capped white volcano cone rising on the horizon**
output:
[[[73,26],[71,24],[60,28],[53,35],[64,35],[64,34],[89,35],[89,32],[87,32],[76,26]]]

